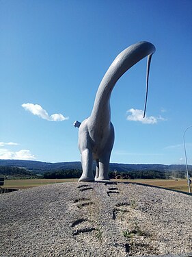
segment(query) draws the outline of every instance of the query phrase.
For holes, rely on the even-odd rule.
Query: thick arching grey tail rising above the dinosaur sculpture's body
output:
[[[110,97],[115,83],[128,69],[131,68],[131,66],[146,56],[152,56],[154,51],[155,47],[150,42],[138,42],[135,45],[131,45],[126,48],[115,58],[98,87],[94,107],[90,117],[92,122],[99,124],[100,126],[105,126],[110,123]],[[148,62],[147,73],[149,73],[149,66],[150,61]]]

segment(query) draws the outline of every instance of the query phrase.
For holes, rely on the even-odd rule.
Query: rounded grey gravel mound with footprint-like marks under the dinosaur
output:
[[[189,254],[191,200],[192,195],[163,188],[114,182],[3,194],[0,256]]]

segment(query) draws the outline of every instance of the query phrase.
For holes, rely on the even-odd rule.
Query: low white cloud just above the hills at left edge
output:
[[[36,157],[29,150],[22,149],[20,151],[10,151],[8,149],[0,149],[0,159],[3,160],[36,160]]]

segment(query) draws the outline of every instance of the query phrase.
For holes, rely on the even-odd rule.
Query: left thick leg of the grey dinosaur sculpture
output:
[[[92,171],[93,158],[92,151],[90,149],[85,149],[81,152],[81,164],[83,173],[81,175],[81,178],[79,178],[79,182],[94,181],[94,174]]]

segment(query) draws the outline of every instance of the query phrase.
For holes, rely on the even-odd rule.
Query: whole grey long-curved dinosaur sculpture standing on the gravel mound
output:
[[[122,51],[115,58],[100,82],[91,116],[82,123],[79,121],[74,122],[74,126],[79,127],[78,145],[81,152],[81,164],[83,169],[79,181],[109,180],[109,160],[114,143],[114,128],[111,123],[110,110],[111,92],[118,79],[130,69],[131,66],[148,56],[146,101],[143,115],[143,117],[145,117],[150,61],[154,51],[155,47],[150,42],[137,42]],[[95,178],[92,171],[93,160],[96,160]]]

